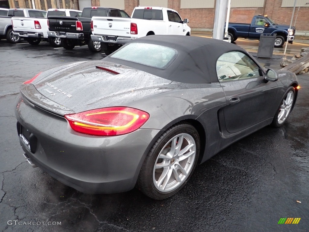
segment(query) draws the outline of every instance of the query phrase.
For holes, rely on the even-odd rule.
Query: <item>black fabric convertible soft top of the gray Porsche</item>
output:
[[[228,51],[242,51],[241,47],[204,37],[177,36],[177,35],[151,35],[134,39],[129,43],[149,43],[167,46],[178,51],[177,58],[165,69],[138,64],[121,59],[105,57],[103,60],[133,67],[159,77],[182,83],[203,84],[218,82],[216,61]],[[252,56],[249,54],[252,58]],[[254,60],[254,58],[252,58]],[[256,62],[257,63],[257,62]]]

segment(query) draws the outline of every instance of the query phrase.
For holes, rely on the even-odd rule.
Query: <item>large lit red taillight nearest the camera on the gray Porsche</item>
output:
[[[138,109],[118,106],[89,110],[64,116],[74,131],[88,135],[124,135],[140,128],[149,114]]]

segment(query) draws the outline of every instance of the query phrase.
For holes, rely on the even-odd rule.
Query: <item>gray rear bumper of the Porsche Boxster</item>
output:
[[[138,129],[119,136],[83,135],[72,131],[63,117],[21,98],[17,100],[16,116],[26,158],[60,182],[90,194],[131,190],[150,144],[160,132]],[[30,131],[29,144],[21,128]]]

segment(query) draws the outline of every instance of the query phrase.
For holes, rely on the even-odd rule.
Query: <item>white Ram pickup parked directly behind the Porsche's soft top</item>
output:
[[[189,36],[188,19],[182,20],[177,11],[163,7],[135,7],[131,18],[100,17],[91,19],[91,39],[101,42],[109,55],[126,42],[148,35]]]

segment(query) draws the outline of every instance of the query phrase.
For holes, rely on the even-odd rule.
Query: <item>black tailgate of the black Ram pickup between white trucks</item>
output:
[[[76,21],[78,17],[69,16],[48,16],[49,31],[61,31],[61,32],[77,32]]]

